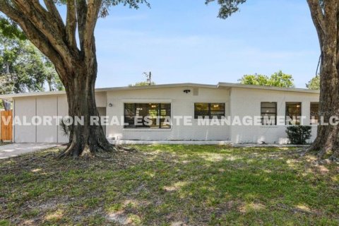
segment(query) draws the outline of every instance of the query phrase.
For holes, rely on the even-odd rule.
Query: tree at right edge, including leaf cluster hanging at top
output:
[[[206,4],[215,0],[206,0]],[[246,0],[218,0],[219,17],[227,18],[239,11]],[[338,0],[307,0],[311,18],[319,37],[321,51],[319,112],[323,122],[339,117],[339,6]],[[320,150],[319,159],[333,152],[331,160],[339,157],[339,126],[319,125],[317,136],[309,150]]]

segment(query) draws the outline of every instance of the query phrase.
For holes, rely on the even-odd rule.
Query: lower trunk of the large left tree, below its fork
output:
[[[95,64],[96,65],[96,64]],[[97,69],[85,63],[69,67],[69,78],[65,83],[69,116],[78,117],[83,124],[71,126],[69,145],[59,157],[93,155],[97,150],[113,150],[101,124],[91,124],[91,117],[100,117],[95,104],[95,78]],[[70,74],[71,73],[71,74]]]

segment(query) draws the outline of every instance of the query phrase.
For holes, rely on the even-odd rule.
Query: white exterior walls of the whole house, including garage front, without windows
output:
[[[277,102],[278,116],[285,117],[285,102],[302,102],[302,115],[307,117],[304,124],[309,124],[310,102],[318,102],[319,94],[280,90],[251,88],[198,88],[194,95],[191,86],[172,88],[120,89],[96,93],[100,115],[124,117],[124,103],[171,103],[174,116],[190,116],[193,126],[173,124],[171,129],[124,129],[123,125],[106,126],[109,139],[146,140],[146,141],[232,141],[233,143],[286,143],[286,126],[198,126],[194,119],[194,103],[225,103],[227,116],[259,116],[261,102]],[[184,93],[184,90],[191,90]],[[14,98],[14,114],[25,116],[28,121],[35,115],[66,116],[68,105],[66,95],[46,95]],[[109,107],[112,104],[112,107]],[[175,122],[175,121],[174,121]],[[316,126],[313,126],[313,138]],[[14,126],[14,141],[23,142],[59,142],[66,143],[59,124],[52,126]],[[313,139],[312,138],[312,139]]]

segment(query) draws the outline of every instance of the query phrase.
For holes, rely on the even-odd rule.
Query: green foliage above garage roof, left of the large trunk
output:
[[[0,29],[0,94],[61,90],[52,63],[28,40]]]

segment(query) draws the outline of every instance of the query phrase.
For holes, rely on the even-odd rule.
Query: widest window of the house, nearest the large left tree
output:
[[[124,128],[170,129],[171,104],[125,103]]]

